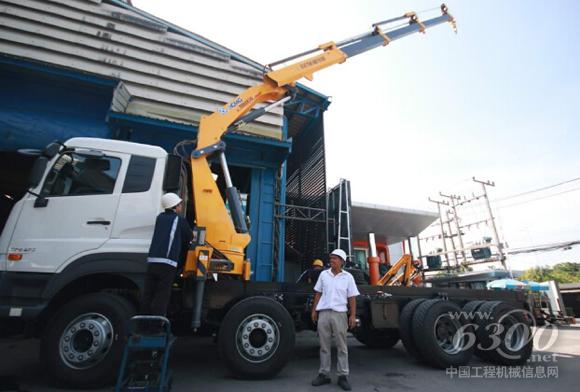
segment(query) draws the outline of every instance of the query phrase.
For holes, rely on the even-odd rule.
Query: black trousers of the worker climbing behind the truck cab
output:
[[[163,263],[148,264],[141,314],[165,316],[177,268]]]

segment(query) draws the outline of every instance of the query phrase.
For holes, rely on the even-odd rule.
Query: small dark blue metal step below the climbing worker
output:
[[[134,316],[127,330],[115,392],[170,391],[169,352],[175,337],[169,320],[162,316]]]

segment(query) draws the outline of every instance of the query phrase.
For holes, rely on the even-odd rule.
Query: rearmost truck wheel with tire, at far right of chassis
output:
[[[501,301],[486,302],[479,311],[489,315],[479,320],[476,331],[484,359],[506,366],[525,364],[533,350],[532,315]]]

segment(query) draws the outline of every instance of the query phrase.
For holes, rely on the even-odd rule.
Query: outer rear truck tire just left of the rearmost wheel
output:
[[[417,349],[425,361],[436,368],[466,365],[473,355],[475,339],[463,333],[465,322],[461,308],[453,302],[435,300],[419,305],[413,315],[413,336]],[[470,339],[471,336],[471,339]]]

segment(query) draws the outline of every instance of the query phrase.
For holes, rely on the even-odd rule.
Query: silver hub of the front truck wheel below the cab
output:
[[[99,313],[85,313],[64,329],[59,352],[64,363],[73,369],[86,369],[100,362],[113,343],[113,325]]]

